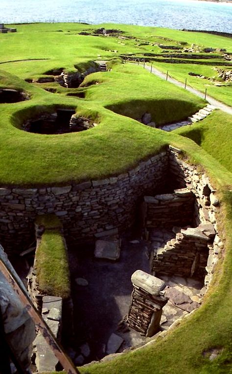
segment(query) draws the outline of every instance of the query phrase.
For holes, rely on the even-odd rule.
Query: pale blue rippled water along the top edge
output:
[[[232,32],[232,2],[0,0],[0,22],[107,22]]]

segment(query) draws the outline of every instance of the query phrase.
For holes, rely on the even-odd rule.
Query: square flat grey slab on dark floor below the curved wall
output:
[[[94,257],[106,258],[116,261],[120,257],[118,240],[97,240],[95,243]]]

